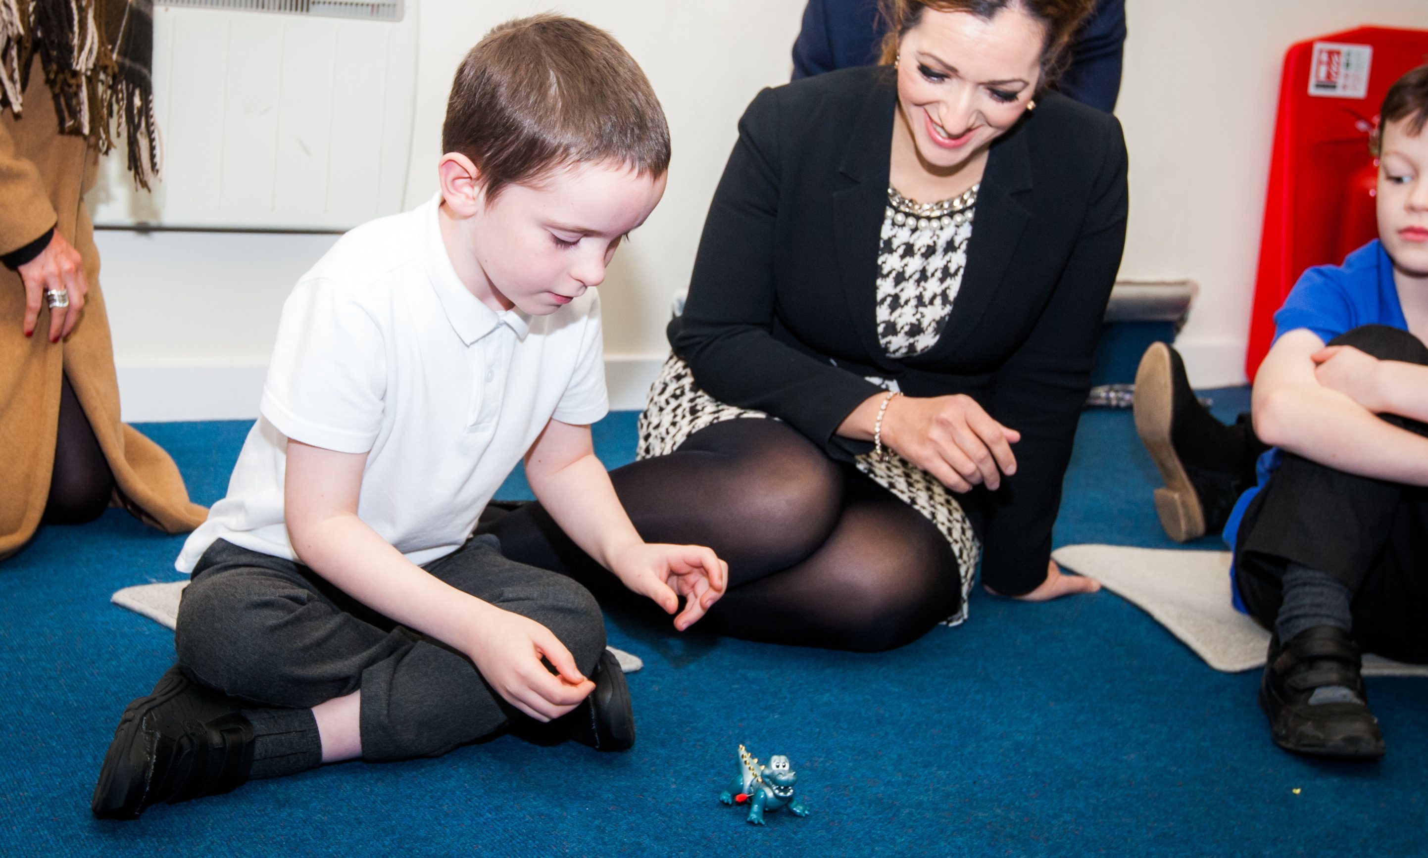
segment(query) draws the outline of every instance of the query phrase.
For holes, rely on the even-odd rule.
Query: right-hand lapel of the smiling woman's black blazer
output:
[[[977,191],[972,236],[967,244],[962,286],[952,303],[942,335],[921,358],[935,360],[954,351],[977,328],[997,294],[1021,241],[1031,213],[1017,198],[1031,190],[1031,156],[1027,148],[1025,117],[1020,126],[992,143]]]

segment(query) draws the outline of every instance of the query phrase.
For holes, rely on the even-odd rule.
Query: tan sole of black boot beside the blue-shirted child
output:
[[[1205,511],[1200,505],[1190,474],[1171,444],[1175,385],[1170,347],[1152,343],[1135,370],[1135,434],[1151,454],[1165,488],[1155,490],[1155,514],[1165,534],[1177,542],[1205,535]]]

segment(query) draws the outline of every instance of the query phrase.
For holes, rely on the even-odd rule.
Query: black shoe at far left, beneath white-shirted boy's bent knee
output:
[[[144,808],[228,792],[248,779],[253,725],[241,704],[178,670],[129,704],[104,755],[90,811],[137,819]]]

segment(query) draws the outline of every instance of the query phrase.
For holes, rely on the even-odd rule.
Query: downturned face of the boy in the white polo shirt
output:
[[[488,288],[501,307],[531,316],[554,313],[604,281],[615,247],[650,217],[664,184],[625,164],[588,163],[536,187],[506,186],[490,206],[478,197],[458,227],[477,268],[473,291],[486,300]]]

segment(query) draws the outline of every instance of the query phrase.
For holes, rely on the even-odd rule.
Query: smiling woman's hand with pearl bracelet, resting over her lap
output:
[[[957,493],[995,491],[1002,474],[1017,473],[1011,445],[1020,440],[965,394],[892,397],[883,417],[883,443]]]

